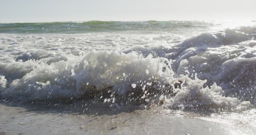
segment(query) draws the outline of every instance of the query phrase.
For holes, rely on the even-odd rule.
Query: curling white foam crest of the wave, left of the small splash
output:
[[[166,58],[152,58],[151,55],[144,58],[136,53],[92,51],[86,56],[50,65],[47,61],[39,62],[41,60],[6,66],[3,72],[9,84],[5,95],[28,99],[80,97],[93,86],[99,90],[114,86],[112,90],[122,94],[132,89],[131,84],[154,80],[168,83],[173,74],[171,69],[162,72],[162,67],[166,66],[164,61],[168,61]],[[120,65],[116,64],[118,62]]]

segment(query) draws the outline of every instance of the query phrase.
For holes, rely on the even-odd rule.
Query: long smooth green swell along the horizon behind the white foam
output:
[[[0,24],[0,33],[86,33],[115,32],[127,30],[162,30],[176,31],[178,28],[207,28],[210,23],[200,21],[146,21],[146,22],[42,22],[42,23],[10,23]]]

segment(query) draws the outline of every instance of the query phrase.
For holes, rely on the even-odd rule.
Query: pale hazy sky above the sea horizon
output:
[[[0,0],[0,22],[256,20],[256,0]]]

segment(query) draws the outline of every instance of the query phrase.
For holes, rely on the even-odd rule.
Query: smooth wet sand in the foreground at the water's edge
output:
[[[93,102],[91,102],[93,103]],[[164,106],[108,107],[94,103],[81,110],[80,102],[62,105],[36,103],[0,104],[0,134],[6,135],[95,135],[95,134],[161,134],[161,135],[228,135],[254,134],[250,124],[232,123],[211,114],[172,111]],[[88,102],[89,104],[89,102]],[[223,119],[223,121],[222,121]],[[230,123],[228,123],[228,121]]]

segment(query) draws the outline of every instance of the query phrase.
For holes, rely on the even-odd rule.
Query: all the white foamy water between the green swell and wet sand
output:
[[[160,92],[180,78],[182,88],[169,100],[171,108],[218,111],[255,105],[256,28],[188,36],[1,34],[0,96],[75,99],[92,89],[111,87],[124,95],[140,87],[145,93],[147,86]]]

